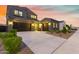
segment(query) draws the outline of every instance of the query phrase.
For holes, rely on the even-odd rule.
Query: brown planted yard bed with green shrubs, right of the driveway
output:
[[[68,39],[77,31],[77,28],[73,29],[69,25],[63,27],[63,30],[51,30],[47,31],[48,34],[55,35],[58,37],[62,37],[64,39]]]

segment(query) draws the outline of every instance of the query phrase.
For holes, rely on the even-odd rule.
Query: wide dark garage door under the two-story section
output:
[[[22,23],[22,22],[14,22],[13,28],[17,29],[18,31],[30,31],[31,24],[30,23]]]

